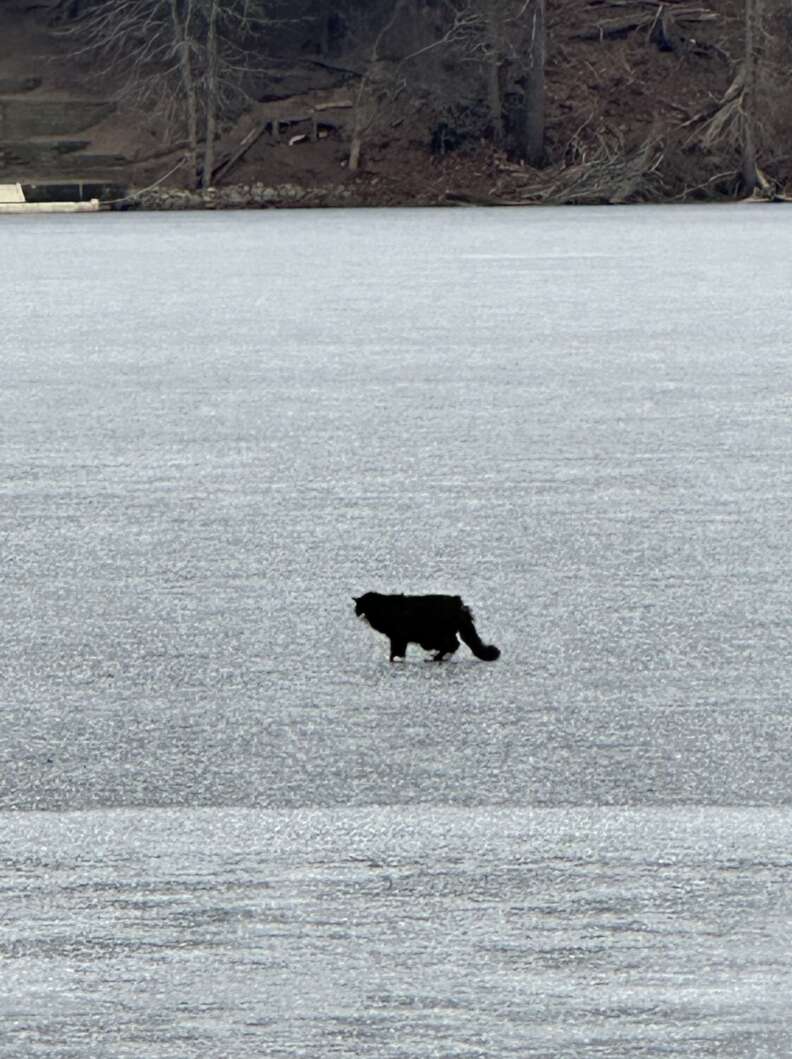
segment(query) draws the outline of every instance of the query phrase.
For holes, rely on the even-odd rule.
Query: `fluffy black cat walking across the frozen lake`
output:
[[[388,636],[392,662],[395,658],[404,657],[410,643],[420,644],[424,650],[435,651],[434,661],[440,662],[460,646],[457,633],[473,654],[484,662],[494,662],[501,654],[497,647],[482,643],[470,608],[460,596],[366,592],[355,598],[355,613],[364,617],[377,632]]]

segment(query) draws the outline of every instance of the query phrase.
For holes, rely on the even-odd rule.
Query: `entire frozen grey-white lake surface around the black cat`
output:
[[[2,1059],[787,1055],[792,213],[0,234]]]

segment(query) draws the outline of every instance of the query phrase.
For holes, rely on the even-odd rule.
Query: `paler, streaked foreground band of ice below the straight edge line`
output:
[[[789,810],[6,814],[3,1055],[780,1057]]]

